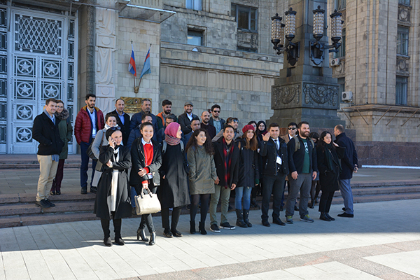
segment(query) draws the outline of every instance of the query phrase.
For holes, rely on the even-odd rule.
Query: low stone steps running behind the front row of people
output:
[[[352,184],[353,201],[364,203],[420,199],[420,181],[386,182],[381,183],[381,186],[372,185],[374,183]],[[257,197],[257,199],[260,204],[261,197]],[[97,219],[92,214],[94,204],[94,194],[92,193],[87,195],[64,193],[59,196],[52,196],[50,200],[56,206],[41,209],[34,204],[33,194],[0,195],[0,228]],[[233,206],[233,204],[233,199],[231,199],[230,205]],[[342,197],[339,192],[335,193],[332,204],[342,204]],[[316,205],[310,213],[317,211],[317,209],[318,206]],[[184,208],[182,214],[188,213],[188,210]],[[155,215],[159,216],[160,214]],[[315,215],[312,214],[312,216]]]

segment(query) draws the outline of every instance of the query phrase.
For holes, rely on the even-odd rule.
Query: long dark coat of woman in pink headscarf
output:
[[[188,176],[181,144],[176,146],[168,144],[166,152],[162,155],[158,197],[162,208],[183,207],[190,204]]]

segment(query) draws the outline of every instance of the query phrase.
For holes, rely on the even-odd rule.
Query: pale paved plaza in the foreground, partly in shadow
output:
[[[162,237],[155,246],[137,241],[139,218],[124,219],[125,246],[102,244],[99,221],[0,229],[0,279],[420,279],[420,200],[356,204],[355,218],[298,221],[281,227]],[[342,213],[332,205],[330,214]],[[398,211],[395,211],[398,209]],[[234,223],[235,214],[228,214]],[[283,217],[281,217],[283,218]],[[207,228],[209,222],[207,222]]]

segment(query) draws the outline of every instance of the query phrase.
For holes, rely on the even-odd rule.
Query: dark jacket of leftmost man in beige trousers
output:
[[[65,122],[65,120],[63,120]],[[60,120],[55,117],[55,125],[45,112],[36,116],[32,127],[32,138],[39,142],[38,155],[59,155],[64,142],[59,137],[58,124]]]

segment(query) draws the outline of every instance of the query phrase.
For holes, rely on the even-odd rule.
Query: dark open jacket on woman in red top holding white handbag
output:
[[[162,151],[160,151],[160,145],[152,140],[153,144],[153,160],[151,165],[146,166],[144,157],[144,146],[141,143],[141,137],[134,140],[131,147],[132,156],[132,171],[130,172],[130,186],[141,186],[141,182],[149,181],[147,174],[143,177],[139,176],[139,169],[148,167],[149,171],[153,174],[153,179],[149,181],[151,188],[160,185],[160,174],[158,172],[162,165]],[[136,190],[139,193],[139,190]]]

